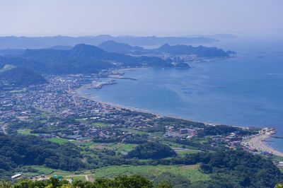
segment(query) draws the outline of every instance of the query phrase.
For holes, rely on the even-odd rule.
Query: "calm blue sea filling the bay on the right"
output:
[[[190,69],[131,69],[125,76],[137,81],[116,79],[118,84],[79,93],[212,124],[272,127],[283,136],[283,40],[241,37],[204,46],[238,54],[190,63]],[[283,152],[283,139],[267,141]]]

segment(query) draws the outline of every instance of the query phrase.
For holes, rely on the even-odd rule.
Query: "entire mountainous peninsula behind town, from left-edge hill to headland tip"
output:
[[[58,45],[48,49],[3,49],[1,52],[4,53],[0,56],[1,86],[46,83],[42,75],[107,76],[117,69],[148,67],[188,69],[190,61],[226,58],[234,53],[216,47],[192,47],[167,43],[156,49],[145,49],[113,40],[103,42],[98,47],[85,44],[74,47]]]

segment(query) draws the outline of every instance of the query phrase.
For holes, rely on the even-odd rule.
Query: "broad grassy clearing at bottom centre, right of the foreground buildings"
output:
[[[106,168],[98,168],[92,170],[94,178],[115,177],[117,175],[144,175],[146,177],[153,177],[161,175],[162,172],[171,172],[175,175],[184,175],[192,182],[200,180],[209,180],[209,175],[204,175],[197,169],[197,165],[121,165],[110,166]]]

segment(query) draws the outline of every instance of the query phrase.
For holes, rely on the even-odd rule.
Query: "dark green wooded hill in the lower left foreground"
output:
[[[59,145],[36,136],[0,134],[1,178],[11,176],[18,165],[46,165],[61,170],[83,168],[79,148],[71,143]]]

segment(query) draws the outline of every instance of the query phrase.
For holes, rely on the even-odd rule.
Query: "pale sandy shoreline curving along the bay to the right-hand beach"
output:
[[[154,113],[154,112],[149,112],[148,110],[141,110],[141,109],[137,109],[137,108],[134,108],[134,107],[127,107],[127,106],[119,105],[119,104],[112,103],[112,102],[94,100],[93,98],[91,98],[92,95],[90,95],[90,94],[83,95],[83,94],[79,93],[79,90],[83,90],[85,88],[88,88],[88,87],[82,86],[81,88],[73,90],[72,93],[74,93],[74,95],[78,95],[78,96],[81,96],[83,98],[87,98],[89,100],[100,102],[103,105],[110,105],[111,107],[125,108],[125,109],[136,111],[136,112],[154,114],[156,116],[165,116],[165,117],[172,117],[172,118],[175,118],[175,119],[184,119],[184,120],[187,120],[187,121],[190,121],[190,122],[203,123],[204,125],[220,125],[220,124],[214,124],[214,123],[209,123],[209,122],[197,121],[197,120],[193,120],[193,119],[185,119],[185,118],[182,118],[182,117],[174,117],[174,116],[166,115],[166,114],[158,114],[158,113]],[[230,126],[239,127],[241,129],[246,128],[246,127],[242,127],[242,126],[233,126],[233,125],[230,125]],[[260,151],[267,151],[268,153],[272,153],[273,155],[278,155],[278,156],[283,157],[283,153],[281,151],[277,151],[275,148],[272,148],[265,141],[266,139],[269,139],[272,136],[272,134],[276,133],[275,129],[269,129],[269,128],[263,128],[263,129],[267,129],[267,132],[265,132],[265,134],[255,134],[255,135],[252,136],[252,139],[250,139],[250,141],[247,141],[247,142],[242,141],[242,143],[248,143],[251,148],[255,148],[255,149],[260,150]],[[260,132],[262,132],[263,129],[261,129]]]

